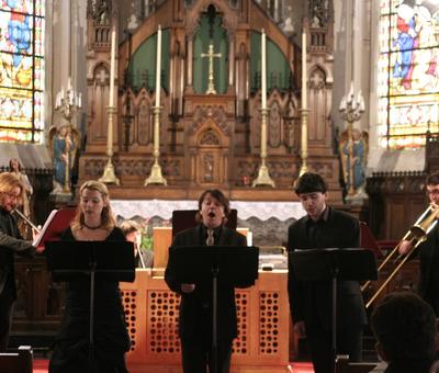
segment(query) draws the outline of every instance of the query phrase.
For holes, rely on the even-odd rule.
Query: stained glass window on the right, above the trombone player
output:
[[[380,146],[418,148],[439,131],[439,2],[380,0]]]

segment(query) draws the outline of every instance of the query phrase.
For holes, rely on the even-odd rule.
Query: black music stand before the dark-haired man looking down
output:
[[[367,249],[306,249],[290,251],[300,281],[333,282],[333,352],[337,355],[337,281],[376,280],[373,251]]]

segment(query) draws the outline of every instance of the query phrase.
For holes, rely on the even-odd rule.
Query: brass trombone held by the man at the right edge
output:
[[[369,299],[369,302],[365,304],[365,308],[369,308],[370,305],[375,301],[375,298],[381,294],[381,292],[384,290],[384,287],[389,284],[389,282],[396,275],[396,273],[399,271],[399,269],[404,265],[404,263],[410,258],[412,253],[415,251],[415,249],[427,239],[427,235],[431,231],[432,228],[438,224],[438,216],[439,216],[439,208],[432,210],[431,206],[428,207],[423,215],[419,216],[419,218],[415,222],[415,224],[408,229],[408,231],[404,235],[404,237],[401,239],[401,241],[395,246],[395,248],[385,257],[381,265],[378,268],[378,272],[384,268],[384,265],[393,258],[395,257],[395,253],[398,253],[398,249],[401,247],[401,244],[403,241],[409,241],[412,248],[408,250],[407,253],[405,255],[398,255],[394,261],[393,264],[395,264],[395,269],[393,272],[387,276],[387,279],[384,281],[384,283],[380,286],[380,289],[372,295],[372,297]],[[401,260],[399,263],[397,263]],[[361,286],[361,292],[364,292],[371,281],[365,282]]]

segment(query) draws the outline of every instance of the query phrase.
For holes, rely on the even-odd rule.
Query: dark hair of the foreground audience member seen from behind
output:
[[[371,328],[390,361],[434,358],[435,312],[414,293],[386,295],[372,313]]]

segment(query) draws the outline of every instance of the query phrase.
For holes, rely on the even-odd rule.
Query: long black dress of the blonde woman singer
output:
[[[75,240],[67,229],[63,240]],[[114,228],[106,241],[124,241]],[[66,307],[55,339],[50,373],[89,372],[90,279],[83,276],[67,283]],[[125,352],[130,350],[119,282],[95,281],[94,291],[94,370],[93,373],[126,373]]]

